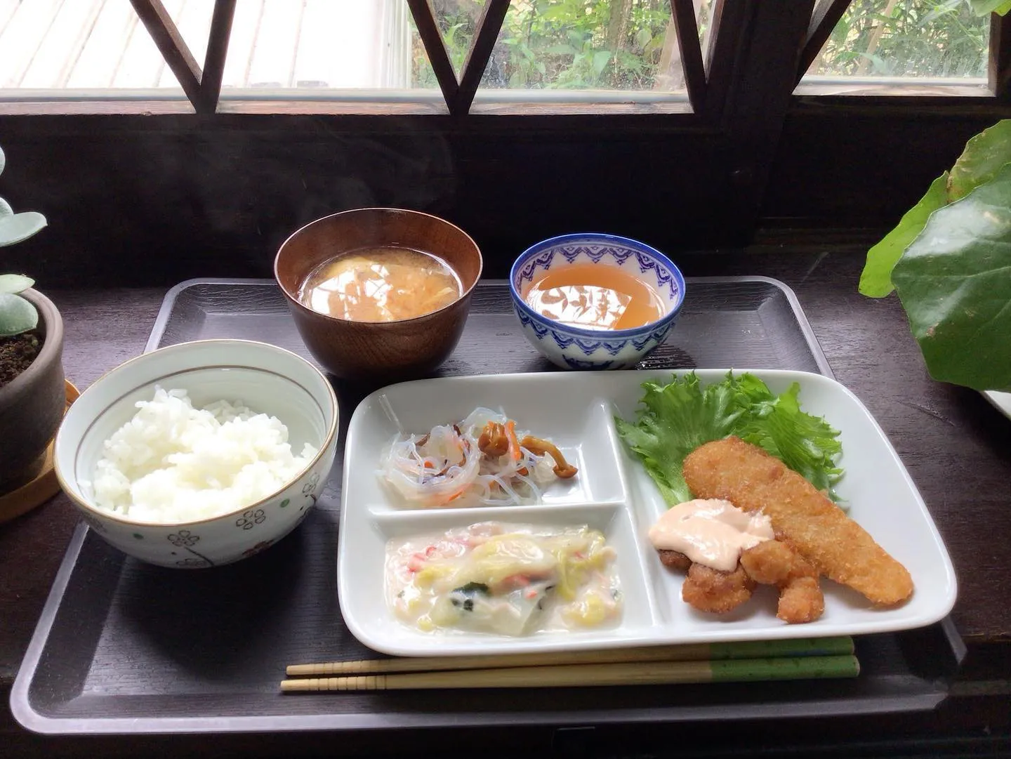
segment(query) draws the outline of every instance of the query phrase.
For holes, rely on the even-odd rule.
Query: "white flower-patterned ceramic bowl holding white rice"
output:
[[[182,464],[183,470],[158,475],[146,495],[152,502],[144,508],[123,509],[123,482],[99,485],[96,478],[99,462],[106,459],[112,465],[103,466],[103,474],[113,479],[123,476],[127,483],[135,484],[143,476],[132,476],[141,470],[131,467],[152,453],[162,454],[164,459],[164,451],[160,450],[163,439],[186,426],[182,424],[180,430],[169,433],[166,431],[171,423],[156,429],[149,424],[150,420],[142,419],[133,431],[136,435],[127,431],[116,438],[113,448],[121,445],[121,450],[109,459],[106,443],[127,422],[132,423],[137,402],[150,402],[156,396],[157,386],[185,391],[198,428],[207,425],[207,416],[200,411],[211,416],[216,412],[215,423],[222,428],[226,426],[229,415],[233,420],[244,417],[245,421],[259,416],[254,425],[270,435],[264,438],[267,445],[257,456],[267,461],[266,468],[270,469],[270,460],[280,451],[277,447],[288,447],[280,457],[287,466],[277,468],[274,474],[280,476],[270,483],[260,482],[254,488],[248,487],[249,482],[240,482],[237,487],[234,475],[241,468],[226,462],[237,452],[242,454],[245,450],[244,455],[249,455],[249,447],[241,443],[245,435],[231,441],[231,452],[224,450],[226,446],[217,445],[220,441],[208,444],[218,449],[216,453],[205,450],[195,459],[175,451],[182,453],[176,463]],[[168,395],[167,390],[163,392]],[[177,393],[175,400],[180,398],[181,393]],[[243,400],[241,407],[235,404],[239,398]],[[221,405],[222,399],[232,400]],[[176,408],[175,412],[184,410]],[[189,414],[185,411],[175,421],[181,423]],[[274,422],[270,417],[275,417]],[[246,425],[233,426],[235,430],[228,435],[243,431]],[[318,369],[295,354],[251,341],[184,343],[132,359],[85,390],[57,434],[55,468],[61,487],[81,511],[84,521],[116,548],[162,566],[214,566],[251,556],[273,545],[301,523],[327,485],[336,455],[337,426],[337,397],[330,382]],[[280,428],[286,429],[286,436]],[[196,438],[205,439],[204,432],[198,432]],[[147,443],[139,443],[145,436]],[[226,441],[227,435],[222,440]],[[145,452],[143,446],[153,451]],[[208,458],[208,454],[212,455]],[[201,468],[201,461],[213,463]],[[260,479],[262,469],[254,466],[252,479]],[[185,476],[180,479],[180,475]],[[201,479],[206,487],[197,487]],[[180,482],[187,486],[176,488]],[[231,494],[220,497],[220,491],[227,488],[232,488]],[[115,491],[118,496],[110,495]],[[204,502],[187,504],[194,495],[197,501],[202,498]],[[99,501],[107,497],[112,498],[113,505],[118,497],[120,507],[110,509],[108,500],[103,507]],[[152,505],[157,507],[151,508]]]

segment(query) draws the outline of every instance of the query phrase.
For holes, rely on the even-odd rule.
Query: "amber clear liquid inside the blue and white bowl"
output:
[[[583,329],[632,329],[656,321],[660,294],[633,275],[605,264],[571,264],[544,272],[524,294],[550,319]]]

